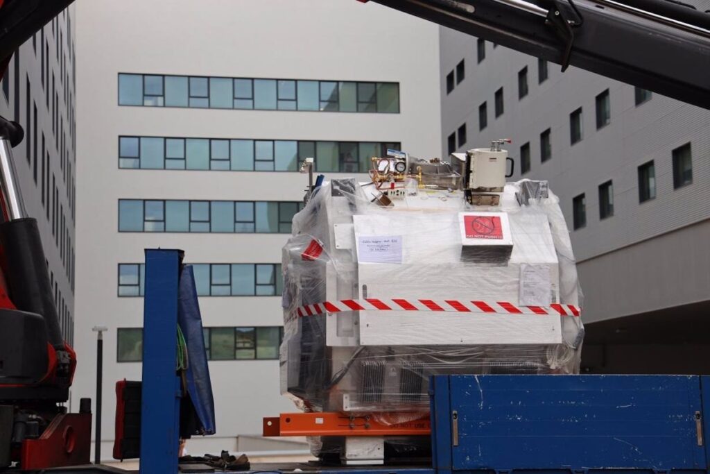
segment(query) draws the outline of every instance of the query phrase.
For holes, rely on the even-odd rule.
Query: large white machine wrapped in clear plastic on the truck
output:
[[[581,293],[559,201],[545,181],[506,183],[506,158],[501,141],[448,162],[391,151],[372,158],[368,183],[312,190],[283,249],[281,388],[301,409],[402,426],[427,416],[430,375],[579,372]],[[413,440],[312,448],[381,463],[412,457]]]

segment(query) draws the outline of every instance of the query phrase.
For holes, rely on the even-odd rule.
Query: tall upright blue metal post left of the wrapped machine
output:
[[[180,250],[146,249],[141,474],[178,472],[180,378],[175,367],[181,257]]]

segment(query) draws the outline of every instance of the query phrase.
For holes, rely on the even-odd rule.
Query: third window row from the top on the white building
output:
[[[119,232],[290,233],[300,202],[119,200]]]

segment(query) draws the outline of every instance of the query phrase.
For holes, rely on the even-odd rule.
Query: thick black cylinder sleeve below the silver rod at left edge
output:
[[[41,315],[49,343],[63,350],[62,330],[37,221],[26,217],[0,224],[0,244],[10,299],[19,310]]]

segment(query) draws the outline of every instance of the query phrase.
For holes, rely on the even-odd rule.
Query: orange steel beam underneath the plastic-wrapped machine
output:
[[[429,436],[431,433],[428,414],[397,424],[381,421],[386,417],[387,414],[282,413],[263,419],[263,436]]]

